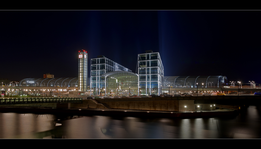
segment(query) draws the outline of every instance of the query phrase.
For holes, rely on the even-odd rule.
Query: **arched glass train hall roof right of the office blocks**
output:
[[[228,84],[226,76],[164,76],[162,78],[162,87],[191,88],[207,87],[217,88]]]

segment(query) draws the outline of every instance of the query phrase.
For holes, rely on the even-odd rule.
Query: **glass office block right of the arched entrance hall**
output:
[[[164,68],[159,52],[148,50],[138,55],[138,75],[141,94],[160,94]]]

